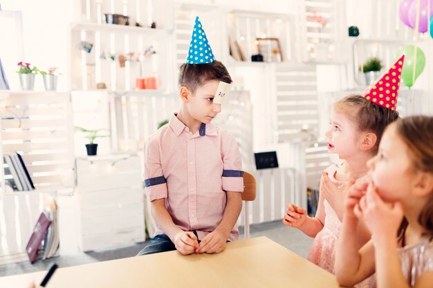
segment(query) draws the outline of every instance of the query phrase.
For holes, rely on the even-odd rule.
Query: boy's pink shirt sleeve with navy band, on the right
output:
[[[243,192],[242,159],[239,147],[234,137],[227,131],[223,132],[222,156],[223,156],[223,190]]]

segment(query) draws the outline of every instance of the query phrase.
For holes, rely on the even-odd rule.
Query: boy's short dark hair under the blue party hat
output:
[[[187,87],[192,93],[196,92],[198,87],[210,80],[223,81],[228,84],[232,83],[232,77],[230,77],[227,68],[220,61],[205,64],[184,63],[179,69],[179,86]]]

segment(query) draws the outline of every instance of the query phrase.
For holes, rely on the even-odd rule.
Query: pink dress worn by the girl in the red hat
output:
[[[329,175],[329,179],[337,184],[339,189],[344,189],[347,182],[341,182],[335,179],[334,175],[337,171],[335,165],[329,166],[325,169]],[[361,177],[356,182],[365,180],[367,177]],[[313,262],[315,265],[322,267],[326,271],[335,274],[334,262],[335,262],[335,249],[337,247],[338,235],[340,233],[341,221],[338,219],[337,214],[332,209],[328,201],[324,200],[324,211],[325,219],[322,231],[317,233],[314,242],[311,245],[311,249],[308,252],[307,259]],[[366,280],[358,283],[355,287],[358,288],[372,288],[376,287],[376,278],[371,276]]]

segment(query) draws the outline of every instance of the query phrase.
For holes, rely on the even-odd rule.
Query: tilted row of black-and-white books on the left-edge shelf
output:
[[[6,164],[8,164],[9,174],[12,175],[12,179],[8,180],[12,189],[18,191],[30,191],[35,189],[26,164],[24,164],[23,158],[19,153],[6,153],[4,160]]]

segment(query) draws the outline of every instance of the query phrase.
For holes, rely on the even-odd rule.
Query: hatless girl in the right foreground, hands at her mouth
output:
[[[371,182],[347,189],[335,256],[340,285],[376,272],[377,287],[433,285],[433,117],[407,117],[385,131],[368,162]],[[358,245],[359,220],[371,240]]]

